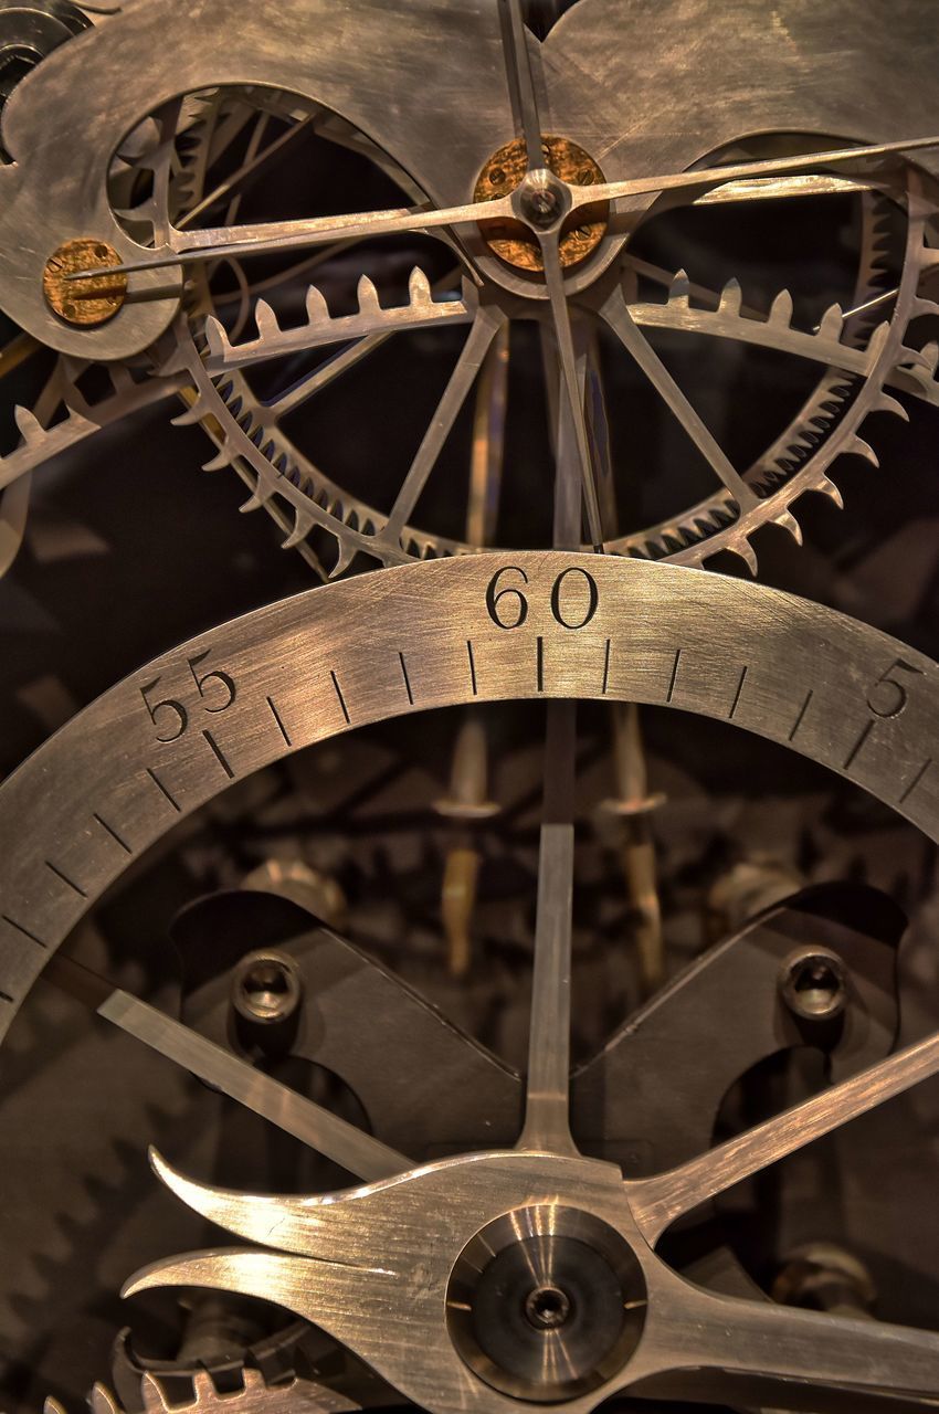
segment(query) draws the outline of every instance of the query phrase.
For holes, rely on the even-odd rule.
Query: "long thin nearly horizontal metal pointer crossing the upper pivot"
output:
[[[598,201],[617,201],[656,191],[680,191],[751,177],[772,177],[778,173],[800,171],[817,164],[850,163],[865,157],[887,157],[891,153],[939,147],[939,137],[914,137],[901,143],[878,143],[871,147],[839,147],[824,153],[800,153],[796,157],[772,157],[757,163],[728,167],[703,167],[699,171],[669,173],[663,177],[638,177],[629,181],[605,182],[598,187],[568,187],[571,211]],[[194,260],[218,260],[222,256],[264,255],[273,250],[296,250],[337,239],[387,236],[404,230],[428,230],[434,226],[458,226],[465,222],[518,218],[511,197],[496,201],[468,202],[464,206],[396,208],[393,211],[358,212],[348,216],[317,216],[303,221],[266,222],[255,226],[215,226],[191,232],[178,247],[146,260],[109,266],[107,274],[136,274]],[[182,233],[180,232],[180,236]],[[76,270],[66,280],[96,280],[102,270]]]

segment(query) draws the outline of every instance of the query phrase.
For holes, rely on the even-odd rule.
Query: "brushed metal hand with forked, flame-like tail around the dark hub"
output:
[[[194,1184],[158,1155],[153,1162],[195,1212],[281,1250],[170,1258],[140,1271],[126,1292],[180,1284],[263,1294],[321,1325],[434,1414],[518,1408],[462,1363],[447,1292],[474,1237],[502,1215],[532,1208],[611,1226],[642,1270],[648,1301],[638,1346],[622,1367],[590,1393],[540,1408],[590,1410],[619,1389],[667,1393],[687,1376],[696,1398],[708,1387],[745,1398],[750,1389],[812,1410],[834,1408],[832,1398],[851,1391],[928,1401],[939,1387],[939,1335],[713,1295],[684,1281],[645,1243],[628,1185],[607,1164],[491,1152],[327,1198],[272,1198]]]

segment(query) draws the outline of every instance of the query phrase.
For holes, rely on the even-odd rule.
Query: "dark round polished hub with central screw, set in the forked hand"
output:
[[[553,1403],[597,1389],[636,1349],[646,1308],[628,1243],[591,1213],[553,1203],[488,1223],[447,1291],[460,1356],[494,1389]]]

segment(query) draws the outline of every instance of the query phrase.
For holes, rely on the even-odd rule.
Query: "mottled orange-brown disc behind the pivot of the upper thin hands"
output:
[[[574,187],[594,187],[605,181],[602,171],[583,147],[568,137],[544,134],[542,139],[544,163],[561,181]],[[474,201],[495,201],[508,197],[519,185],[527,170],[527,147],[523,137],[516,137],[496,148],[477,178]],[[573,214],[570,229],[564,230],[559,250],[561,266],[580,264],[597,249],[607,229],[608,204],[598,202],[595,208],[581,206]],[[576,225],[573,223],[576,222]],[[486,245],[506,264],[518,270],[543,270],[542,247],[537,236],[520,221],[492,222],[484,229]]]

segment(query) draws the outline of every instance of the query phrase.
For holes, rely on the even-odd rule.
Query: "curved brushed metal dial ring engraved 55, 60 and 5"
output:
[[[496,592],[527,604],[513,629],[486,609],[499,570]],[[564,628],[554,588],[577,622],[585,575],[595,612]],[[228,676],[231,703],[209,673]],[[936,839],[938,682],[922,655],[792,595],[567,551],[410,566],[273,604],[132,674],[0,788],[0,1031],[48,952],[150,844],[232,781],[351,727],[513,697],[655,703],[791,745]],[[180,707],[151,718],[147,701],[167,699]],[[185,731],[160,741],[180,711]]]

